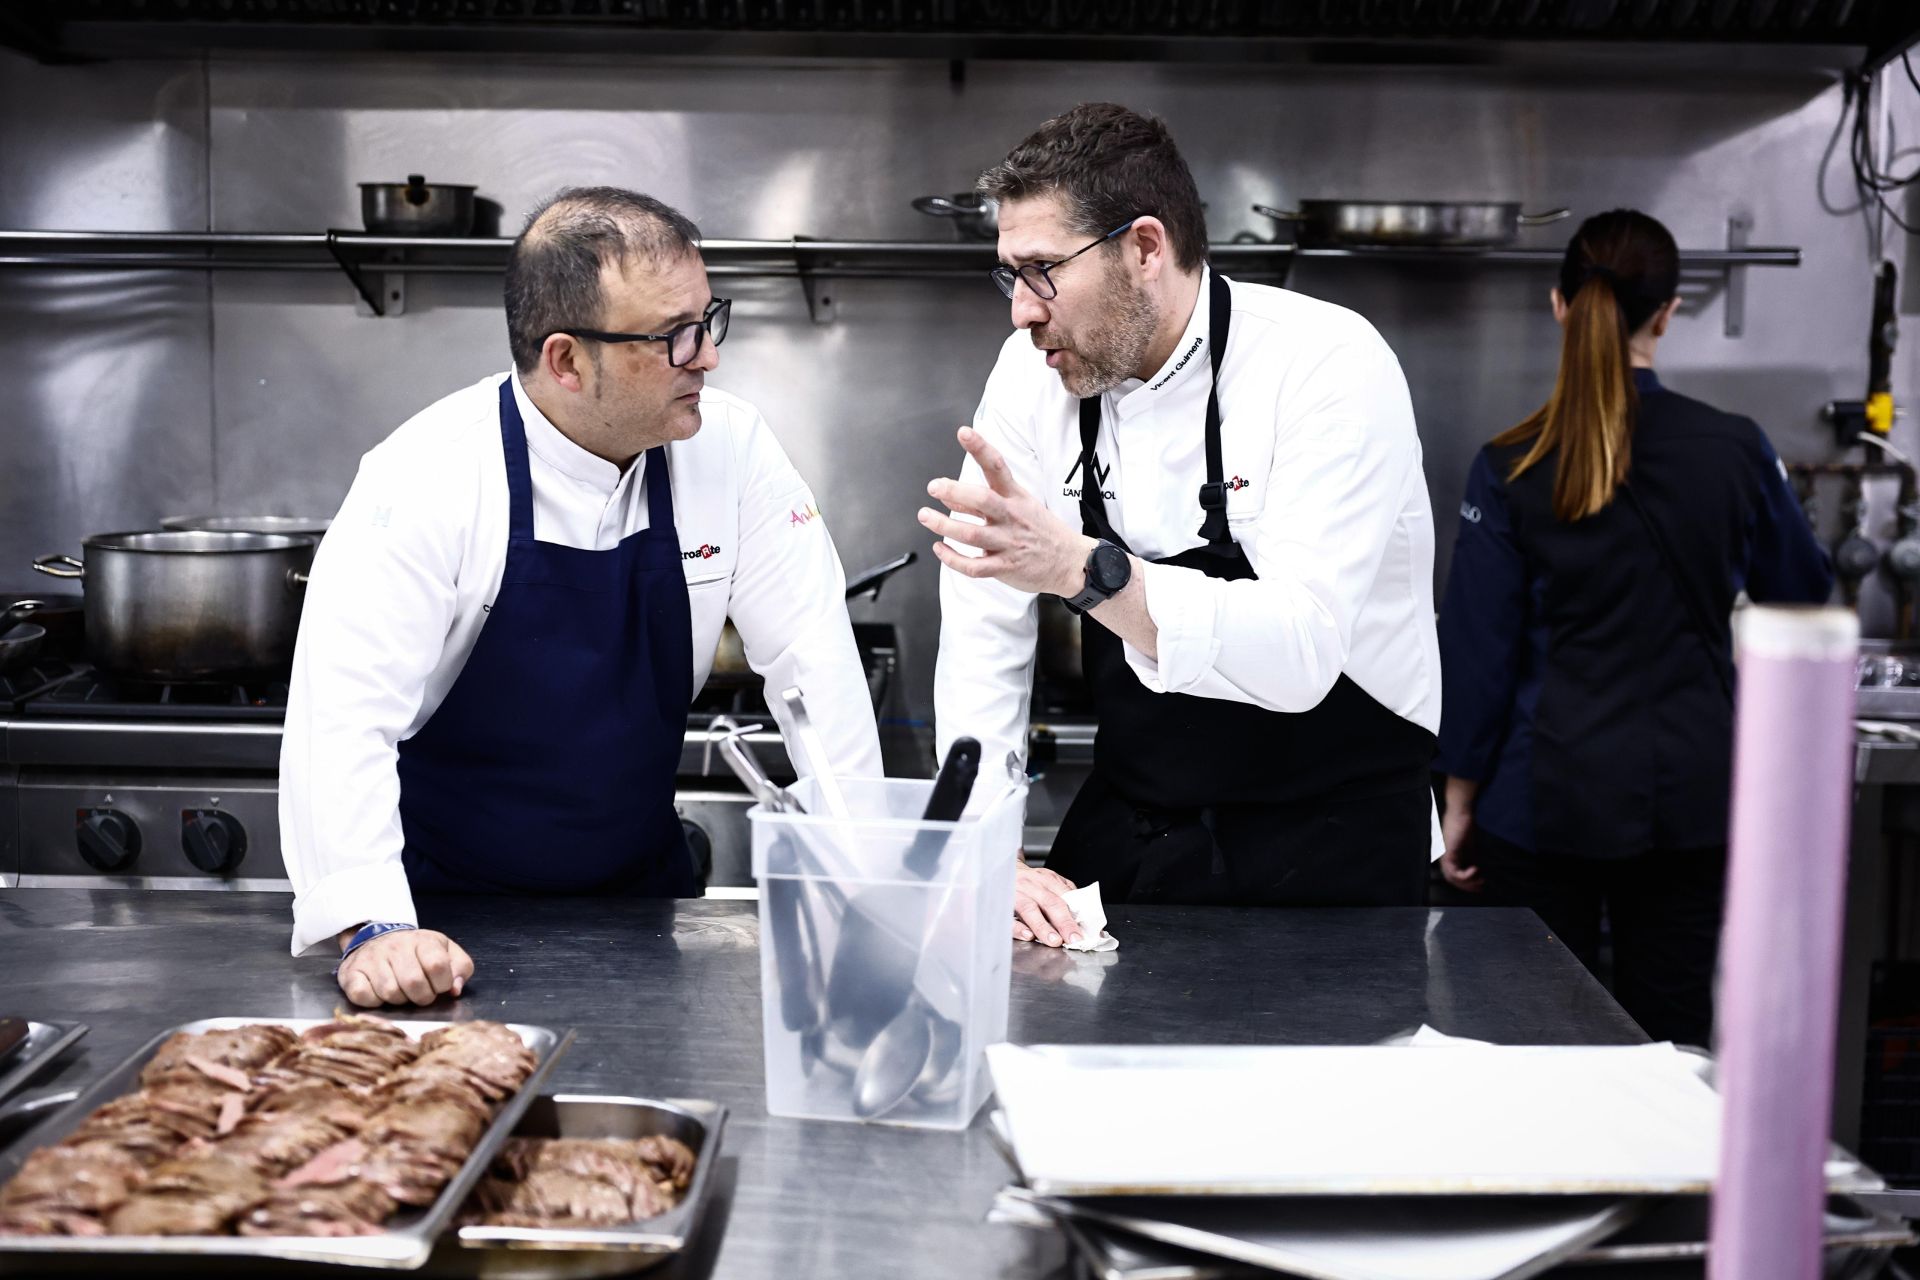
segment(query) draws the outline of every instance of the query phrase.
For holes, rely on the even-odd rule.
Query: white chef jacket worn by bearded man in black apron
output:
[[[1079,399],[1025,332],[1000,347],[973,415],[1014,480],[1075,530],[1081,486],[1098,484],[1142,560],[1206,545],[1208,276],[1165,365],[1100,397],[1092,478],[1079,474]],[[1260,578],[1146,564],[1160,656],[1125,645],[1127,664],[1154,693],[1275,712],[1311,710],[1344,672],[1436,731],[1434,528],[1400,361],[1344,307],[1263,284],[1231,282],[1231,294],[1219,374],[1227,524]],[[987,484],[972,459],[962,480]],[[1033,595],[941,572],[941,758],[960,735],[981,741],[983,760],[1025,758],[1037,631]]]

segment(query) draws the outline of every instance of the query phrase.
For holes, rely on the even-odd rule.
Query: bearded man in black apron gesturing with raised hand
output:
[[[947,539],[939,748],[1025,752],[1037,597],[1081,614],[1094,766],[1014,936],[1060,892],[1244,906],[1425,904],[1438,850],[1432,512],[1400,363],[1361,317],[1208,265],[1165,125],[1046,121],[979,180],[1014,328]]]

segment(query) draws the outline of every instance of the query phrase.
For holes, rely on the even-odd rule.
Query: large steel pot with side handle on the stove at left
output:
[[[84,560],[33,568],[86,581],[86,649],[115,676],[250,679],[294,662],[313,539],[286,533],[96,533]]]

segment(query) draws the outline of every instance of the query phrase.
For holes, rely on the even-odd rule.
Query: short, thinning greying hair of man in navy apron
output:
[[[634,255],[699,253],[701,228],[653,196],[618,186],[568,186],[534,209],[507,255],[507,345],[513,367],[540,365],[547,334],[603,326],[601,269]]]

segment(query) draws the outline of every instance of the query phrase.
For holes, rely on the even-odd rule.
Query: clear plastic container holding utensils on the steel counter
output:
[[[806,814],[755,806],[766,1109],[822,1121],[966,1128],[1006,1038],[1008,921],[1025,783],[962,821],[922,821],[931,779],[841,779],[847,821],[812,779]]]

